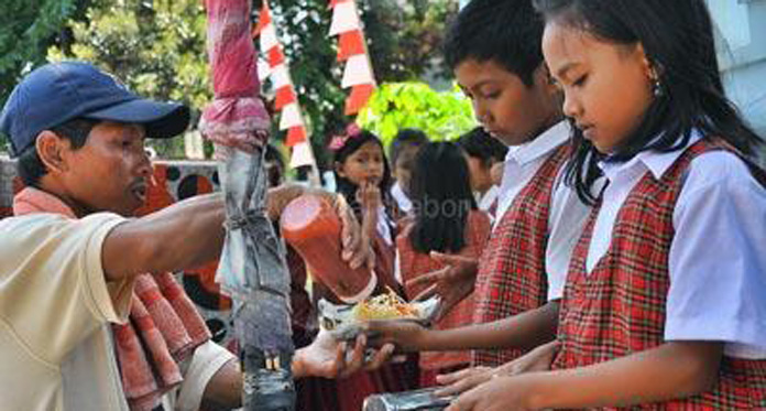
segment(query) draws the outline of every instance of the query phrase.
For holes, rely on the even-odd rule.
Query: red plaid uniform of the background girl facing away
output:
[[[400,271],[402,272],[402,280],[405,283],[425,273],[445,267],[434,261],[428,255],[416,252],[413,249],[412,242],[409,241],[411,231],[412,225],[408,225],[396,238],[396,249],[400,253]],[[485,213],[472,210],[469,214],[464,236],[466,247],[460,250],[459,255],[478,258],[490,237],[490,218]],[[408,299],[413,299],[424,290],[425,286],[405,286],[405,293]],[[435,324],[434,328],[449,329],[471,324],[473,320],[473,295],[474,294],[469,295],[466,300],[456,305],[445,317]],[[470,360],[471,358],[468,351],[420,353],[422,369],[445,369],[459,365],[468,365]]]

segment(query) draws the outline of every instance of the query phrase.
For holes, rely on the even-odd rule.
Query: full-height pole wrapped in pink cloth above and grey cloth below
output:
[[[271,126],[260,99],[249,0],[206,0],[216,99],[200,131],[216,145],[227,236],[217,281],[234,302],[244,368],[243,409],[292,411],[294,347],[285,251],[265,210],[264,144]]]

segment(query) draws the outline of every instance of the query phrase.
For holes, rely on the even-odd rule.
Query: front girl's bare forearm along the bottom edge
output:
[[[689,397],[713,386],[722,355],[722,343],[665,343],[588,367],[494,378],[447,411],[628,407]]]

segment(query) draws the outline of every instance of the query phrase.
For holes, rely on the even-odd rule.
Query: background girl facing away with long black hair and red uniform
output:
[[[425,286],[412,280],[447,267],[431,258],[431,252],[478,258],[490,237],[490,218],[477,208],[471,191],[467,154],[451,142],[433,142],[422,147],[415,158],[411,180],[412,216],[396,238],[397,270],[407,298]],[[473,295],[469,295],[435,324],[450,329],[472,323]],[[420,387],[436,385],[436,376],[467,367],[469,351],[420,354]]]

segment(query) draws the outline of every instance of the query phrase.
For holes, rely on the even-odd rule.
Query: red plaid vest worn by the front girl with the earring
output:
[[[587,274],[588,249],[601,204],[594,207],[569,267],[559,316],[561,348],[554,369],[583,367],[663,344],[674,208],[689,164],[712,150],[727,148],[702,140],[681,154],[659,181],[647,172],[617,214],[609,250]],[[713,390],[632,409],[765,408],[766,360],[724,357]]]

